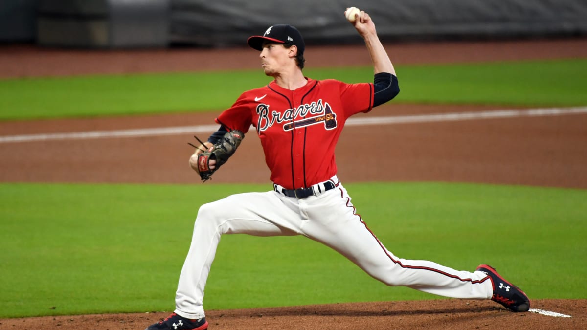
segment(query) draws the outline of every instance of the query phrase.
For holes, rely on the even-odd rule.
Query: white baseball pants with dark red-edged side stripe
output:
[[[397,258],[363,223],[346,189],[338,184],[319,196],[299,200],[268,191],[235,194],[201,206],[177,288],[178,315],[204,317],[204,287],[222,234],[304,235],[338,251],[387,285],[452,298],[487,299],[493,293],[491,280],[483,272]]]

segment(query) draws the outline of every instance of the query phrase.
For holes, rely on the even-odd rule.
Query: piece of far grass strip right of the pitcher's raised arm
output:
[[[587,105],[587,59],[413,66],[399,102],[519,106]]]

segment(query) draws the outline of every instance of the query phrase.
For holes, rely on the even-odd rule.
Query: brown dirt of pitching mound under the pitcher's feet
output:
[[[439,299],[208,311],[210,329],[585,329],[587,300],[535,300],[512,313],[492,301]],[[0,329],[144,329],[169,312],[0,320]]]

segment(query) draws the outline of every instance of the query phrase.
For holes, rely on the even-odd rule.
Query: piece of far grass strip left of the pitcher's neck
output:
[[[220,109],[267,82],[250,71],[0,80],[0,120]]]

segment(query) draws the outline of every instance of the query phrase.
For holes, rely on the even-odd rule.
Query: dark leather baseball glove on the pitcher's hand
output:
[[[198,172],[200,173],[202,182],[212,179],[212,174],[214,174],[222,164],[226,163],[230,156],[237,151],[237,147],[241,144],[244,137],[245,135],[241,131],[231,130],[230,132],[226,132],[224,136],[208,148],[208,150],[198,154]],[[195,137],[195,139],[201,144],[204,144],[197,137]],[[194,146],[191,143],[188,144]],[[216,161],[214,169],[210,169],[210,160]]]

